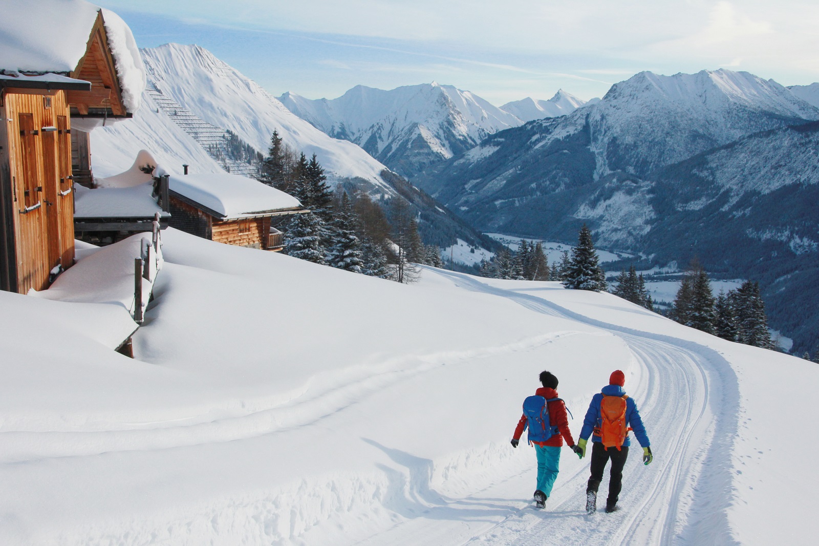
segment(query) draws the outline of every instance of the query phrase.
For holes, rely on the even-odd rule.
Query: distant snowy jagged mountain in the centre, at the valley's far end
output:
[[[332,100],[284,93],[279,100],[330,136],[359,144],[406,176],[521,124],[474,93],[436,82],[389,91],[357,85]]]

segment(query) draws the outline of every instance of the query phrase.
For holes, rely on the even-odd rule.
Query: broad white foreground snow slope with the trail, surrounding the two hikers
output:
[[[66,328],[77,303],[0,293],[2,544],[812,541],[816,469],[788,439],[817,440],[782,416],[809,414],[814,363],[554,283],[406,286],[164,239],[136,360]],[[529,507],[509,435],[544,367],[574,435],[626,372],[655,459],[629,457],[621,512],[581,515],[568,449]]]

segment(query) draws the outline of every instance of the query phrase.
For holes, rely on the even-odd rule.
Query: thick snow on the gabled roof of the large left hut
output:
[[[97,13],[102,11],[108,46],[114,57],[124,107],[139,109],[145,67],[129,26],[113,11],[84,0],[3,0],[0,16],[0,69],[74,71],[85,55]]]

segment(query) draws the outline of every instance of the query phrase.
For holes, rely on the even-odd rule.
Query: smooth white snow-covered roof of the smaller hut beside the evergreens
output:
[[[157,170],[158,171],[158,170]],[[258,180],[228,173],[170,175],[170,191],[223,218],[259,216],[301,207],[301,202]]]

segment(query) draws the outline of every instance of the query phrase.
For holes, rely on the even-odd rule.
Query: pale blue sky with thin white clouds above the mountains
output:
[[[496,105],[602,96],[639,71],[819,80],[819,2],[111,0],[140,47],[197,43],[274,95],[454,84]]]

